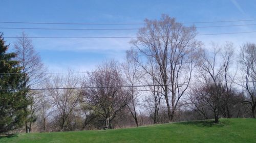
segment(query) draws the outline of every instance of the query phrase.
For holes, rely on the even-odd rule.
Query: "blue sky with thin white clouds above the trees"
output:
[[[11,22],[53,23],[143,23],[160,19],[161,14],[175,17],[178,22],[227,21],[256,19],[255,0],[169,0],[169,1],[12,1],[0,0],[0,32],[4,37],[16,37],[22,32],[29,37],[127,37],[136,36],[137,30],[13,30],[2,27],[24,28],[140,28],[143,25],[59,25],[17,24]],[[195,23],[196,26],[256,24],[255,21]],[[186,24],[187,26],[191,24]],[[199,34],[256,31],[256,25],[197,28]],[[238,48],[245,42],[256,43],[256,33],[207,35],[196,38],[209,46],[211,41],[223,45],[233,42]],[[16,39],[5,38],[13,47]],[[104,60],[122,62],[125,51],[131,48],[131,39],[32,39],[42,62],[50,72],[91,71]]]

